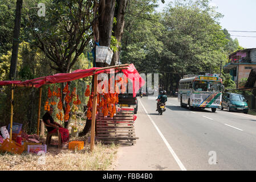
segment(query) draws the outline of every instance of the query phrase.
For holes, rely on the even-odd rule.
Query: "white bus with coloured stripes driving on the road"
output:
[[[190,110],[200,107],[211,108],[215,113],[221,109],[222,79],[216,76],[184,76],[178,85],[178,101],[180,106],[188,106]]]

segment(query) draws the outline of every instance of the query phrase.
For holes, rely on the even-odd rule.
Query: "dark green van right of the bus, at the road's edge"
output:
[[[247,100],[241,94],[224,93],[224,97],[221,103],[221,110],[227,109],[227,111],[242,111],[247,114],[249,111]]]

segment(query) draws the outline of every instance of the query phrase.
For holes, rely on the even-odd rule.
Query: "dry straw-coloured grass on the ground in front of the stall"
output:
[[[72,124],[71,124],[72,125]],[[83,126],[81,126],[83,128]],[[104,171],[115,168],[118,146],[115,144],[95,144],[94,151],[90,151],[90,143],[86,137],[72,140],[83,140],[86,144],[84,150],[72,151],[60,149],[56,146],[48,147],[45,157],[35,154],[13,155],[0,153],[0,171]],[[57,143],[57,138],[52,137],[51,143]],[[44,163],[44,164],[42,164]]]

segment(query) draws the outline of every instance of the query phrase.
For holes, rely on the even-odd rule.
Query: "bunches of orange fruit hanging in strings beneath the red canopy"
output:
[[[104,117],[113,118],[116,114],[116,104],[119,102],[118,95],[119,93],[125,92],[125,86],[121,86],[119,89],[119,86],[117,86],[117,82],[119,85],[122,85],[124,82],[127,82],[127,80],[124,80],[123,78],[119,78],[119,80],[115,80],[115,92],[110,93],[110,80],[108,80],[108,90],[107,88],[104,88],[104,85],[102,86],[103,93],[97,94],[97,102],[96,102],[96,111],[97,113],[102,113]],[[75,120],[76,123],[76,112],[79,110],[78,105],[80,105],[82,102],[79,99],[78,94],[76,93],[76,88],[72,90],[72,92],[68,88],[68,84],[63,88],[62,93],[64,94],[64,101],[66,102],[66,110],[64,110],[64,113],[62,113],[63,110],[63,103],[62,103],[62,94],[61,89],[58,88],[58,90],[55,89],[51,92],[50,86],[48,87],[48,93],[47,93],[47,100],[44,105],[44,110],[50,111],[50,105],[57,105],[57,108],[59,109],[58,113],[56,114],[56,117],[59,119],[60,122],[68,121],[70,119]],[[90,86],[87,85],[86,92],[84,93],[84,96],[89,97],[88,103],[87,103],[87,118],[91,119],[92,117],[92,102],[94,100],[94,93],[90,91]],[[59,99],[58,104],[55,101],[56,99]],[[76,126],[74,126],[74,129]]]

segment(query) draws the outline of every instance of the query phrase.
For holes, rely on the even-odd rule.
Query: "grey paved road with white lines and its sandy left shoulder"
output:
[[[134,146],[122,146],[115,170],[256,170],[256,117],[190,111],[168,98],[166,112],[139,98]],[[216,164],[214,163],[216,156]]]

